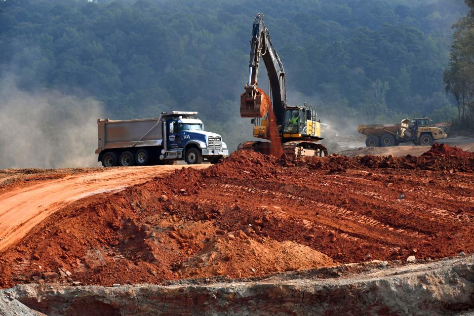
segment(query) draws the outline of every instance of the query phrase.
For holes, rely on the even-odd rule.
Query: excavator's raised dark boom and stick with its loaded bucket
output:
[[[261,118],[270,109],[270,100],[265,92],[258,88],[260,59],[263,59],[270,82],[273,108],[277,124],[283,120],[286,105],[285,72],[283,64],[270,40],[270,33],[263,23],[263,14],[255,17],[250,41],[250,63],[245,92],[240,96],[240,116],[242,118]]]

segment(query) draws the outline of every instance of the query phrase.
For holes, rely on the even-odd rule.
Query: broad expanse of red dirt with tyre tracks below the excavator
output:
[[[436,259],[473,252],[473,231],[473,158],[236,152],[57,211],[0,255],[0,286],[45,272],[111,285]]]

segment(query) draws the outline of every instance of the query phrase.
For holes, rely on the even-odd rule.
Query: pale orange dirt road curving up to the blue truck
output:
[[[197,168],[206,168],[207,164]],[[183,165],[113,168],[69,175],[61,179],[7,191],[0,195],[0,251],[21,239],[36,224],[58,209],[83,197],[120,191],[146,182]]]

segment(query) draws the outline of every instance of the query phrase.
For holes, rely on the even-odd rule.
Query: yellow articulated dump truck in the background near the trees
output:
[[[432,125],[430,118],[405,118],[400,123],[359,125],[357,131],[367,136],[367,147],[397,146],[407,142],[431,146],[435,140],[447,137],[442,128]]]

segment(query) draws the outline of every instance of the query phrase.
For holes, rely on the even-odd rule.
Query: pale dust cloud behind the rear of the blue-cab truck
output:
[[[97,118],[92,98],[56,90],[24,92],[0,81],[0,169],[99,166]]]

